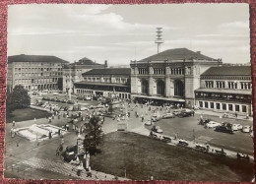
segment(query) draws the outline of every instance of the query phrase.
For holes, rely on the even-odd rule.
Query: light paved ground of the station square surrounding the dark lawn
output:
[[[98,101],[78,101],[84,102],[88,105],[95,105]],[[54,103],[54,102],[52,102]],[[67,105],[67,104],[65,104]],[[37,107],[40,108],[40,107]],[[102,130],[104,134],[117,131],[119,123],[124,123],[127,125],[128,132],[134,132],[144,136],[150,135],[150,130],[152,126],[146,126],[145,122],[150,120],[153,111],[159,115],[165,113],[164,109],[160,109],[157,106],[151,106],[151,111],[149,106],[131,103],[128,105],[127,102],[122,102],[123,112],[130,112],[131,116],[125,118],[124,120],[117,121],[113,118],[105,117],[102,125]],[[97,111],[98,109],[96,109]],[[75,112],[71,112],[75,113]],[[87,113],[93,113],[93,110],[83,111],[82,116],[86,116]],[[139,114],[136,117],[135,113]],[[142,121],[141,116],[143,115],[144,121]],[[208,143],[212,148],[224,149],[227,153],[232,154],[238,153],[248,153],[253,155],[253,141],[250,135],[247,133],[235,132],[233,135],[218,133],[212,129],[205,129],[202,125],[198,125],[198,120],[200,116],[203,115],[204,118],[211,118],[212,120],[218,122],[230,122],[239,123],[242,125],[251,125],[251,120],[244,120],[244,117],[238,119],[227,119],[220,118],[222,114],[214,114],[207,111],[197,111],[195,116],[173,119],[161,119],[156,125],[159,125],[163,130],[161,135],[170,136],[173,138],[175,134],[178,134],[180,139],[189,141],[193,143],[193,138],[195,136],[196,142],[200,144]],[[62,127],[68,124],[70,118],[64,118],[62,115],[60,118],[55,117],[52,119],[51,124],[55,126]],[[47,124],[47,118],[41,118],[17,122],[15,128],[28,127],[32,124]],[[84,122],[79,122],[77,125],[80,126]],[[98,179],[98,180],[111,180],[115,176],[109,175],[107,173],[101,173],[93,169],[92,177],[88,177],[86,172],[82,173],[81,176],[76,174],[76,166],[70,163],[65,163],[60,156],[56,155],[56,149],[60,145],[61,139],[59,137],[50,140],[45,140],[43,142],[30,142],[24,138],[15,136],[11,137],[10,131],[12,128],[12,123],[6,125],[6,137],[5,137],[5,177],[21,177],[21,178],[52,178],[52,179],[67,179],[67,178],[77,178],[77,179]],[[68,133],[64,135],[64,148],[76,144],[77,135],[75,131],[69,129]],[[172,142],[170,145],[175,145],[176,142]],[[192,147],[192,145],[191,145]],[[252,158],[252,156],[251,156]],[[45,172],[44,172],[45,171]],[[43,174],[42,174],[43,173]],[[125,178],[118,177],[119,180],[124,180]]]

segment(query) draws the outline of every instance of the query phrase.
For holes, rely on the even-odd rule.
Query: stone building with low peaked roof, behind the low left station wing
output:
[[[63,92],[74,92],[74,83],[83,81],[83,73],[92,69],[107,68],[107,61],[104,64],[98,64],[87,57],[80,59],[78,62],[65,65],[63,68]]]

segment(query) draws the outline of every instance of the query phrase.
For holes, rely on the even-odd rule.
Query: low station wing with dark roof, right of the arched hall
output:
[[[211,67],[201,75],[195,96],[202,109],[251,115],[251,67]]]

